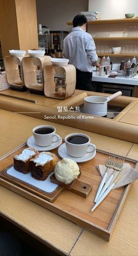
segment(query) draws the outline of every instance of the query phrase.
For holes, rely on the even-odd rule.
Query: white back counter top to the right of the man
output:
[[[93,71],[92,74],[92,81],[95,82],[106,82],[106,83],[120,83],[123,85],[136,85],[138,86],[138,79],[134,79],[134,77],[132,78],[126,78],[126,77],[108,77],[108,75],[106,76],[99,76],[99,71]]]

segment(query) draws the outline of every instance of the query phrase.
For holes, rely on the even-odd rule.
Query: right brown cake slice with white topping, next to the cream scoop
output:
[[[58,157],[51,152],[41,152],[30,160],[31,175],[36,180],[46,180],[58,163]]]

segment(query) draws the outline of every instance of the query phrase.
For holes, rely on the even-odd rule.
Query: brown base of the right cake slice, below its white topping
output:
[[[53,160],[48,161],[44,166],[36,166],[36,163],[30,161],[29,170],[31,175],[36,180],[46,180],[53,171]]]

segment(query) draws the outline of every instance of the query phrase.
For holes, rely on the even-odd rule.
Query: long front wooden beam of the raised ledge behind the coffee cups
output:
[[[2,97],[0,101],[0,108],[5,110],[10,109],[13,112],[22,112],[22,114],[39,119],[44,119],[45,116],[48,116],[48,118],[49,116],[53,116],[52,121],[58,124],[84,129],[85,131],[95,132],[97,134],[118,138],[120,140],[138,142],[136,125],[124,124],[123,122],[113,121],[112,119],[101,118],[98,116],[94,116],[94,118],[90,116],[89,118],[89,115],[79,112],[73,112],[73,118],[69,119],[68,112],[62,112],[59,114],[58,109],[55,111],[55,108],[44,107],[28,102],[19,102],[14,99],[9,99],[7,101],[7,99]],[[83,116],[85,116],[85,118],[83,118]]]

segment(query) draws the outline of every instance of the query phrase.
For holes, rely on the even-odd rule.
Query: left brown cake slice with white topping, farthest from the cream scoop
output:
[[[20,173],[29,173],[29,161],[32,157],[38,155],[38,151],[35,148],[25,148],[21,154],[14,156],[14,168]]]

